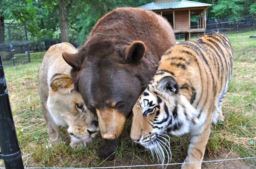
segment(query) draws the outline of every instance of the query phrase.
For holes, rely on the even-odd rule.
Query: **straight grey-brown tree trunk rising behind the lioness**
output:
[[[65,0],[58,0],[61,42],[69,42],[68,39],[68,13]]]

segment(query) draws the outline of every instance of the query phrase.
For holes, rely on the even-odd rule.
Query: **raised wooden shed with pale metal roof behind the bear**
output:
[[[151,10],[165,17],[172,25],[174,33],[185,34],[185,40],[190,40],[191,33],[206,31],[206,9],[211,4],[186,0],[156,0],[153,3],[138,8]],[[190,28],[190,17],[197,16],[197,28]]]

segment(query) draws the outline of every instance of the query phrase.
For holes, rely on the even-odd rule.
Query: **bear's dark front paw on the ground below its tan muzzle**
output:
[[[121,136],[116,140],[105,140],[105,144],[100,148],[99,157],[112,161],[116,157],[116,151],[121,145]]]

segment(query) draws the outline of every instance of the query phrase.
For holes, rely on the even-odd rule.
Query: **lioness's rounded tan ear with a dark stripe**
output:
[[[50,86],[53,91],[59,91],[62,94],[68,94],[74,89],[74,83],[68,74],[55,74],[52,77]]]

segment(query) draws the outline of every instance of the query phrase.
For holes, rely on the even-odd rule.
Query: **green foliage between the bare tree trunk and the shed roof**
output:
[[[83,35],[91,32],[97,21],[109,11],[117,7],[138,7],[152,2],[154,0],[78,0],[70,5],[68,23],[74,25],[81,37],[80,41],[84,41]]]

